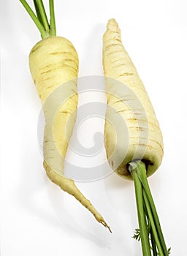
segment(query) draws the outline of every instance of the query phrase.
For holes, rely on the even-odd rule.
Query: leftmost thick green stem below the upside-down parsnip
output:
[[[142,252],[143,252],[143,255],[151,256],[149,237],[148,237],[148,228],[145,220],[145,212],[143,209],[142,184],[137,176],[137,173],[132,172],[132,176],[134,179],[135,194],[137,198],[137,214],[138,214],[138,221],[140,226]]]

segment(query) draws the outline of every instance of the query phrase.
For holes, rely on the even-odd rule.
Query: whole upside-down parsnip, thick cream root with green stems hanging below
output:
[[[147,180],[161,165],[161,130],[114,19],[108,21],[103,37],[103,67],[107,94],[104,144],[112,170],[134,181],[140,225],[134,238],[141,238],[144,256],[150,256],[151,249],[153,255],[169,255]]]

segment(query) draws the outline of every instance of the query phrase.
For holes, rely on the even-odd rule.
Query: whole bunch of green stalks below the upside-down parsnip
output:
[[[140,225],[140,238],[142,240],[141,233],[144,233],[145,229],[148,230],[146,222],[141,223],[140,221],[140,213],[139,213],[140,205],[143,205],[144,206],[143,211],[144,211],[145,217],[147,217],[148,223],[150,224],[150,228],[148,230],[148,238],[150,236],[151,244],[150,244],[150,241],[148,241],[148,243],[149,243],[150,249],[153,250],[153,256],[156,256],[156,255],[168,256],[170,249],[167,250],[167,246],[164,241],[164,236],[161,231],[159,217],[156,212],[156,207],[153,202],[153,197],[151,195],[148,179],[146,176],[145,164],[141,161],[130,162],[129,171],[131,172],[131,176],[134,179],[134,186],[135,186],[136,200],[137,200],[137,212],[138,212],[139,225]],[[137,233],[137,230],[136,230],[136,233]],[[145,253],[144,247],[145,247],[145,244],[142,243],[143,256],[148,256],[148,254]],[[159,254],[157,251],[159,252]]]

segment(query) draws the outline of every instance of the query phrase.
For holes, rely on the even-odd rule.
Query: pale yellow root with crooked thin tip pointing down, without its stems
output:
[[[108,227],[75,182],[64,176],[64,159],[76,118],[78,66],[74,46],[63,37],[42,39],[29,55],[31,75],[45,112],[44,167],[51,181],[73,195],[98,222]]]

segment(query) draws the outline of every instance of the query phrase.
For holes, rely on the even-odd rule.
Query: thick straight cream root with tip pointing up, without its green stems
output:
[[[104,143],[110,166],[131,179],[128,163],[142,159],[150,176],[163,157],[161,130],[114,19],[108,21],[103,37],[103,67],[107,92]]]

